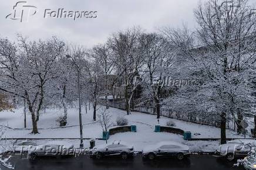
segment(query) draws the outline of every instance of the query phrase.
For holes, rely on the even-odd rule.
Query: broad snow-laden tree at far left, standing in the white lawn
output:
[[[56,78],[56,59],[65,44],[56,37],[47,41],[18,38],[19,48],[6,39],[0,40],[0,90],[26,100],[32,118],[32,133],[36,134],[45,88]]]

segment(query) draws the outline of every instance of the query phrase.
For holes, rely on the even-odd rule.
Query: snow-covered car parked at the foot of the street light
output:
[[[43,145],[38,145],[35,148],[29,149],[29,158],[37,157],[61,157],[64,155],[73,154],[74,145],[64,141],[50,141]]]

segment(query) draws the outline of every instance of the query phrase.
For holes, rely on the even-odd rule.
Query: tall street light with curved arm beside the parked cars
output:
[[[67,58],[71,58],[73,63],[76,65],[76,70],[78,71],[78,98],[79,98],[79,127],[80,127],[80,148],[83,148],[83,125],[82,125],[82,115],[81,115],[81,98],[80,98],[80,68],[76,61],[68,54]]]

